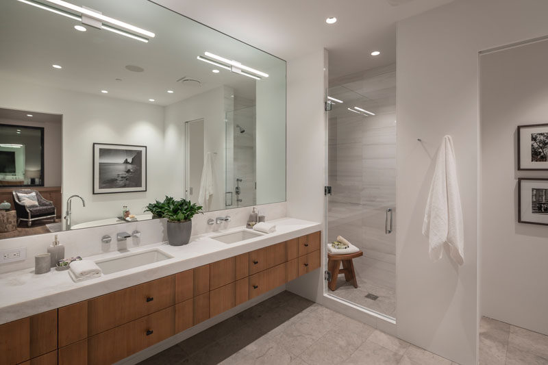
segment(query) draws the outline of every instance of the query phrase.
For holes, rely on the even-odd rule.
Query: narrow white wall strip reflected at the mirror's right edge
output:
[[[286,68],[266,70],[268,78],[256,82],[257,203],[286,199]]]

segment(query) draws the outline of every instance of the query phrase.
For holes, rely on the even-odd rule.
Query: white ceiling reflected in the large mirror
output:
[[[75,3],[75,1],[72,1]],[[255,99],[256,81],[197,60],[210,51],[257,68],[271,77],[283,77],[284,62],[146,0],[83,0],[103,14],[155,33],[148,43],[88,27],[15,0],[0,1],[0,77],[87,92],[101,97],[169,105],[218,86],[234,88],[235,94]],[[60,64],[56,70],[52,64]],[[126,65],[145,69],[127,71]],[[279,72],[283,70],[283,72]],[[176,80],[199,79],[201,87]],[[116,81],[121,79],[121,81]],[[108,94],[101,94],[108,90]],[[166,90],[174,90],[168,94]]]

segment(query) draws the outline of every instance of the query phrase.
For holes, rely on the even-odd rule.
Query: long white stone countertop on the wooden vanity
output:
[[[242,227],[192,236],[190,242],[184,246],[170,246],[167,242],[160,242],[124,252],[114,251],[84,257],[86,260],[95,261],[154,248],[161,249],[173,256],[173,258],[160,262],[107,275],[103,274],[100,277],[78,283],[71,279],[68,270],[58,271],[53,268],[49,273],[42,275],[36,275],[34,268],[1,274],[0,324],[173,275],[190,268],[240,255],[240,253],[261,249],[321,229],[320,223],[295,218],[281,218],[269,221],[269,223],[275,223],[275,232],[231,244],[214,240],[212,237],[238,231]]]

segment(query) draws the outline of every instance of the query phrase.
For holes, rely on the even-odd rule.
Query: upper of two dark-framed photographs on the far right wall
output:
[[[548,124],[518,126],[518,170],[548,170]]]

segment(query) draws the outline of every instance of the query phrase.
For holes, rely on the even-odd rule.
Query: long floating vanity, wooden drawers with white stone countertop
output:
[[[66,271],[0,275],[0,364],[112,364],[321,266],[319,224],[277,227],[86,257],[108,270],[80,283]],[[129,266],[114,270],[119,260]]]

